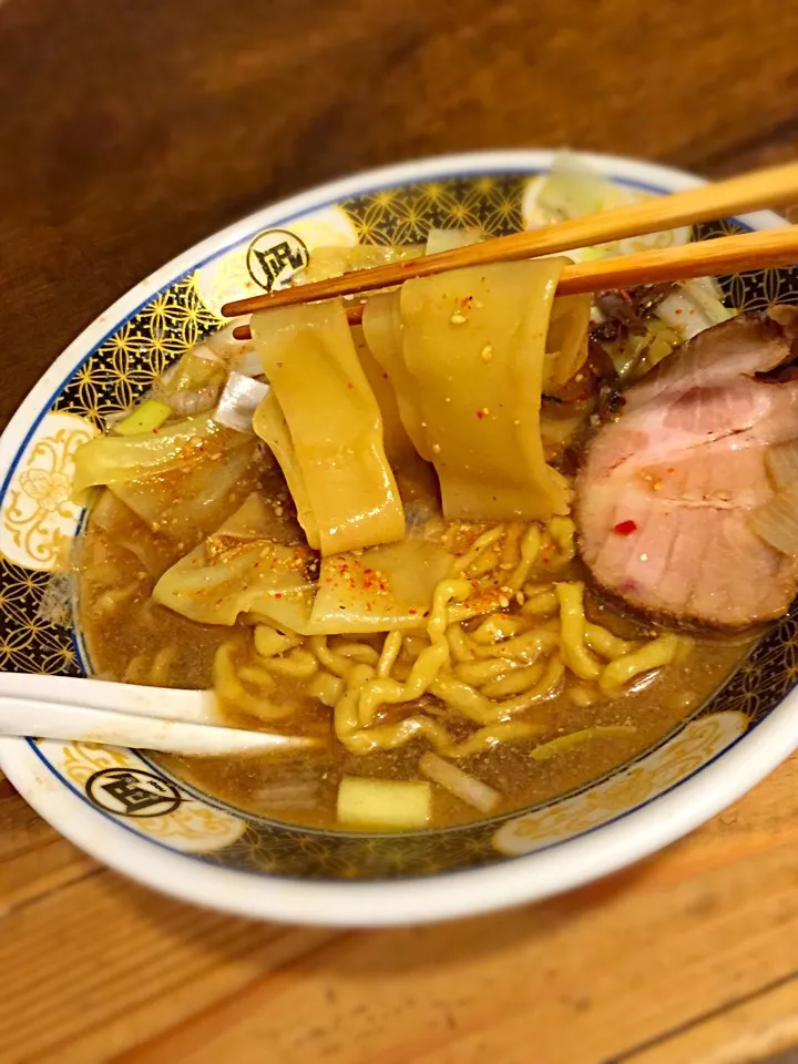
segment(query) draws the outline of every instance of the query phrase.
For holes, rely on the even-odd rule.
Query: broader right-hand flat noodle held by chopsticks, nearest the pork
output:
[[[395,378],[396,364],[385,368],[413,407],[412,431],[405,424],[413,440],[423,432],[447,519],[567,512],[566,483],[546,466],[540,434],[549,318],[566,262],[499,263],[402,286],[402,359],[412,381]],[[372,348],[378,360],[385,349]],[[401,401],[399,410],[405,420]]]

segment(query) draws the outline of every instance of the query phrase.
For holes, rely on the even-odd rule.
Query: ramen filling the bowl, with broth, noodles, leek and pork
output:
[[[555,298],[565,262],[263,311],[80,449],[94,673],[315,740],[172,770],[325,828],[493,816],[656,744],[787,611],[791,314]]]

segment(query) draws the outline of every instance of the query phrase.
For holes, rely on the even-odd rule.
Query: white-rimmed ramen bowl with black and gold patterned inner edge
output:
[[[635,192],[700,183],[648,163],[584,157]],[[91,325],[34,386],[0,442],[2,668],[91,675],[61,572],[83,521],[70,501],[75,449],[218,328],[224,303],[273,288],[316,247],[419,244],[430,228],[453,226],[488,235],[524,228],[552,158],[545,151],[448,156],[325,185],[212,236]],[[757,213],[698,226],[692,238],[779,224]],[[789,269],[720,283],[738,308],[798,303]],[[378,835],[279,822],[204,792],[139,750],[3,738],[0,764],[66,838],[154,889],[269,920],[423,922],[577,887],[734,801],[798,743],[796,661],[798,631],[788,615],[722,689],[632,760],[555,800],[434,830]]]

